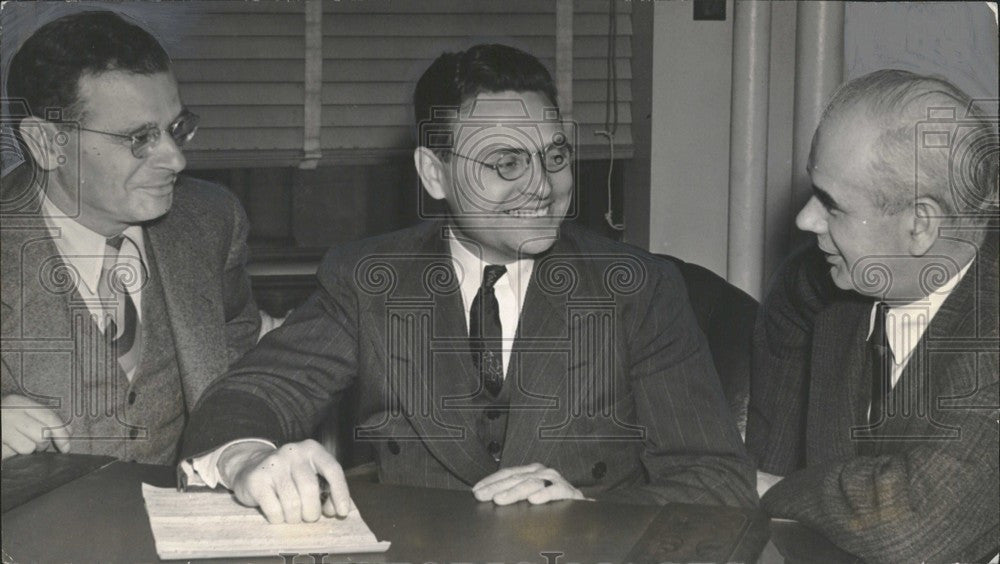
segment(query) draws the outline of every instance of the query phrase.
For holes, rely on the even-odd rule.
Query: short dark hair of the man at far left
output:
[[[63,119],[82,119],[80,77],[114,70],[167,72],[170,58],[149,32],[114,12],[72,14],[43,25],[21,45],[10,62],[7,95],[27,102],[36,117],[60,109]]]

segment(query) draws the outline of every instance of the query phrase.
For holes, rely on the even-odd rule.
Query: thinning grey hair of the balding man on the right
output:
[[[947,134],[954,147],[918,145],[918,124],[935,114],[954,116],[934,120],[935,132]],[[973,214],[983,220],[995,215],[996,119],[987,118],[948,80],[896,69],[866,74],[833,94],[820,123],[843,116],[856,116],[878,128],[867,183],[884,213],[911,205],[919,187],[920,195],[934,198],[947,214]]]

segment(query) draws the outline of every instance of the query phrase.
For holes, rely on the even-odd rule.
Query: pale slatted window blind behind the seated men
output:
[[[202,116],[185,153],[192,168],[298,165],[304,158],[306,5],[185,2],[181,40],[165,41],[185,103]],[[573,119],[581,158],[607,158],[611,4],[576,0]],[[616,157],[631,156],[630,4],[615,7]],[[443,51],[499,42],[539,57],[556,76],[556,2],[324,2],[318,164],[363,164],[414,144],[413,87]]]

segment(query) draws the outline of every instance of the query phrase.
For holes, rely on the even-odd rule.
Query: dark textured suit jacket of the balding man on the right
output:
[[[867,429],[870,299],[794,257],[755,337],[747,444],[785,476],[763,497],[866,561],[973,561],[998,544],[997,234],[979,249]],[[930,274],[930,271],[928,271]]]

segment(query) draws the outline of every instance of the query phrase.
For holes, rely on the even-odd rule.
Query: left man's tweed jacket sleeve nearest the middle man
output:
[[[247,272],[247,235],[250,226],[239,202],[233,202],[233,232],[222,272],[226,318],[226,358],[232,366],[257,342],[260,313],[253,299]]]

